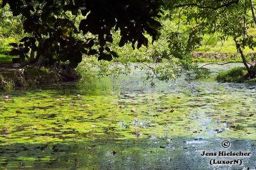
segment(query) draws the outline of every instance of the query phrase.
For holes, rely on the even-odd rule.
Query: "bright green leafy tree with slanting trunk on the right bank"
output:
[[[186,41],[186,51],[191,51],[200,46],[204,35],[217,36],[218,41],[225,41],[232,37],[236,43],[237,52],[241,54],[247,77],[255,77],[255,68],[248,66],[243,50],[245,47],[254,49],[256,43],[252,35],[255,13],[253,2],[248,0],[230,1],[172,1],[166,2],[167,8],[173,13],[180,13],[182,17],[179,24],[187,26],[185,33],[189,33]],[[174,36],[173,36],[174,35]],[[180,37],[177,31],[170,38]],[[177,38],[176,38],[177,39]],[[170,41],[172,44],[173,41]],[[175,42],[175,41],[174,41]],[[175,45],[175,44],[174,44]]]

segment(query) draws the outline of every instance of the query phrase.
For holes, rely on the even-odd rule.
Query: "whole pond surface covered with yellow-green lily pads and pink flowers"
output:
[[[255,84],[180,77],[153,88],[144,79],[136,71],[1,92],[0,169],[256,167]],[[221,146],[223,140],[229,148]],[[201,156],[223,150],[252,156],[241,157],[241,165],[214,166],[212,157]]]

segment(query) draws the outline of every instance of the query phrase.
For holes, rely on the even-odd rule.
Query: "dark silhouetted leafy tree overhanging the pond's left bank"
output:
[[[24,30],[31,35],[11,43],[11,54],[19,55],[20,61],[30,54],[36,66],[69,61],[76,68],[83,54],[111,61],[118,57],[108,47],[111,31],[120,31],[120,47],[131,42],[135,49],[134,45],[148,45],[145,33],[157,40],[161,28],[156,20],[161,0],[3,0],[2,6],[7,3],[14,16],[24,17]],[[79,26],[78,15],[83,15]],[[77,38],[80,31],[84,38]]]

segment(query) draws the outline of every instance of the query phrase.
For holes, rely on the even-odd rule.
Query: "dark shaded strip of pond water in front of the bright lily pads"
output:
[[[230,148],[222,148],[218,139],[94,139],[87,142],[45,144],[13,144],[0,151],[0,167],[33,169],[234,169],[239,165],[211,166],[216,160],[237,157],[203,157],[203,151],[243,151],[252,157],[239,157],[243,167],[255,167],[255,141],[230,140]],[[243,148],[243,149],[241,149]]]

